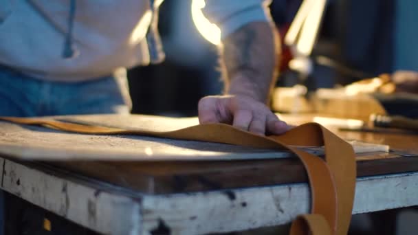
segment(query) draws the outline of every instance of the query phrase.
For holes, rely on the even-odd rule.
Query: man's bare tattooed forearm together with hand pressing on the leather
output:
[[[265,105],[276,80],[280,42],[274,26],[253,22],[223,38],[221,68],[225,96],[199,102],[200,123],[232,124],[259,135],[289,130]]]

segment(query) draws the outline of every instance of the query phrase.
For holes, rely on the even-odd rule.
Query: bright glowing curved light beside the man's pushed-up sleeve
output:
[[[203,15],[203,12],[201,12],[201,9],[204,8],[205,5],[205,0],[192,1],[193,22],[203,38],[214,45],[219,45],[219,43],[221,43],[221,30],[219,30],[219,27],[214,23],[210,23]]]

